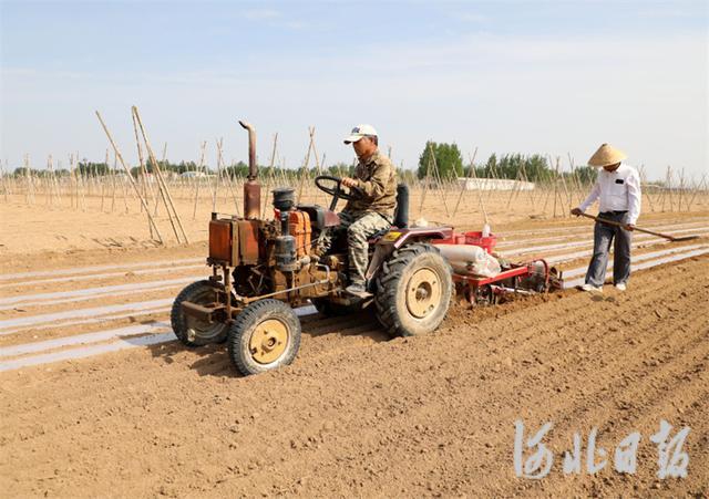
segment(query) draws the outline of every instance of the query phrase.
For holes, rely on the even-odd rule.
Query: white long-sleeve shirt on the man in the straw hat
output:
[[[615,171],[606,171],[599,168],[598,177],[590,194],[578,207],[586,211],[590,205],[598,199],[598,210],[604,211],[627,211],[628,223],[635,225],[640,216],[640,176],[638,170],[620,163]]]

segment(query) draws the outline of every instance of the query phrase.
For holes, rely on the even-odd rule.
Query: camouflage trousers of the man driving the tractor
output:
[[[340,225],[323,231],[318,241],[318,252],[322,254],[332,245],[339,232],[347,230],[347,246],[350,262],[350,281],[352,284],[364,284],[364,274],[369,264],[368,239],[391,227],[390,217],[378,212],[353,214],[341,211]]]

